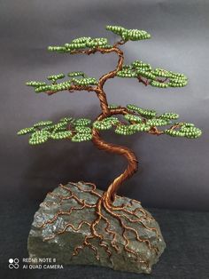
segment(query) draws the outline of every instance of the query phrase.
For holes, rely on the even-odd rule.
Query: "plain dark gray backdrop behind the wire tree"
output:
[[[85,71],[101,76],[117,62],[114,54],[70,56],[47,52],[51,44],[65,44],[76,36],[118,36],[107,24],[144,29],[151,40],[122,47],[126,63],[139,59],[153,67],[186,74],[190,83],[180,89],[144,87],[135,79],[115,78],[105,84],[110,103],[138,104],[159,112],[174,111],[182,121],[197,124],[197,140],[136,134],[120,137],[105,132],[104,139],[134,149],[139,171],[121,187],[120,194],[143,206],[209,209],[209,97],[208,1],[0,1],[1,64],[1,192],[4,200],[41,201],[46,193],[67,181],[91,181],[105,189],[126,162],[98,151],[91,142],[49,142],[30,147],[16,132],[40,120],[99,113],[93,93],[35,94],[27,80],[50,74]],[[28,203],[27,203],[28,204]]]

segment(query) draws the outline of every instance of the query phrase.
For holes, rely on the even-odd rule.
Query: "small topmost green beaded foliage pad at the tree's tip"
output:
[[[139,41],[144,39],[150,39],[151,35],[144,30],[127,29],[121,26],[106,26],[106,30],[112,31],[112,33],[121,36],[124,41]]]

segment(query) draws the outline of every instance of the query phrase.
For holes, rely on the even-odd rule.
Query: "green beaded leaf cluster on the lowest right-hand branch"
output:
[[[117,105],[110,105],[109,108],[120,108]],[[185,137],[195,139],[201,135],[201,130],[194,124],[176,123],[179,115],[166,112],[158,115],[154,109],[140,108],[135,105],[127,106],[129,114],[123,116],[124,121],[120,121],[118,117],[109,116],[100,121],[95,121],[93,127],[97,130],[110,130],[114,128],[114,132],[120,135],[132,135],[135,132],[151,132],[157,127],[170,126],[160,133],[164,133],[173,137]]]

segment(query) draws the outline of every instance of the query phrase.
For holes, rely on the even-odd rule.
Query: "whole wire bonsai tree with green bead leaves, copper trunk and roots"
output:
[[[137,171],[137,158],[132,150],[128,147],[105,142],[101,136],[100,131],[110,130],[119,135],[130,136],[136,132],[146,132],[151,135],[169,135],[172,137],[186,137],[188,139],[196,139],[201,135],[201,131],[195,127],[194,124],[177,121],[178,115],[173,112],[165,112],[161,115],[157,114],[154,109],[146,109],[138,107],[135,104],[128,104],[127,107],[121,107],[120,105],[108,104],[106,93],[104,92],[104,84],[111,78],[135,78],[137,82],[148,86],[154,86],[159,88],[168,87],[182,87],[188,82],[186,76],[180,73],[175,73],[163,68],[151,68],[151,65],[144,63],[141,60],[135,60],[130,64],[125,64],[124,55],[120,48],[121,45],[126,44],[128,41],[140,41],[149,39],[151,37],[146,31],[137,29],[127,29],[120,26],[106,26],[106,29],[112,31],[114,34],[120,36],[120,39],[114,43],[109,44],[106,38],[91,38],[91,37],[79,37],[75,38],[69,44],[61,46],[49,46],[50,52],[68,53],[68,54],[94,54],[100,52],[102,54],[109,54],[114,52],[118,55],[118,63],[116,68],[112,69],[109,73],[104,74],[98,80],[95,77],[87,76],[81,71],[73,71],[64,74],[48,76],[49,82],[27,82],[28,86],[35,88],[36,93],[44,92],[48,95],[53,95],[58,92],[77,92],[87,91],[96,95],[99,100],[101,113],[97,116],[97,119],[91,121],[87,118],[74,119],[74,116],[66,116],[54,124],[52,121],[41,121],[34,124],[32,127],[22,129],[18,132],[19,135],[30,134],[29,144],[39,145],[48,140],[71,140],[73,142],[91,141],[95,147],[104,150],[108,153],[117,154],[125,157],[128,161],[128,166],[124,172],[115,178],[112,183],[107,187],[103,195],[97,192],[96,186],[89,183],[90,190],[80,188],[83,192],[90,192],[92,195],[97,196],[97,203],[89,204],[76,195],[70,192],[69,188],[63,185],[60,187],[66,188],[70,193],[68,198],[72,198],[81,205],[78,208],[71,208],[67,212],[58,212],[54,218],[47,220],[43,223],[43,227],[49,223],[53,223],[58,219],[61,214],[70,214],[72,211],[81,210],[84,208],[92,208],[95,211],[95,220],[92,223],[86,220],[81,220],[78,227],[74,227],[74,224],[67,224],[63,231],[58,232],[55,235],[66,232],[67,227],[78,231],[84,224],[89,227],[90,234],[86,235],[83,243],[74,248],[74,256],[79,253],[85,246],[88,246],[95,253],[96,258],[99,258],[97,246],[92,243],[92,239],[97,239],[99,245],[104,247],[109,257],[112,255],[112,250],[119,251],[117,246],[117,232],[111,228],[110,219],[118,219],[120,227],[122,228],[122,237],[124,239],[124,249],[130,253],[135,260],[140,260],[146,264],[145,259],[138,259],[135,251],[128,247],[127,232],[130,231],[135,235],[135,239],[139,242],[143,242],[149,246],[151,251],[156,251],[154,247],[151,247],[151,243],[147,239],[143,239],[135,228],[128,224],[140,222],[146,229],[152,230],[158,235],[158,230],[155,227],[147,227],[143,223],[143,219],[149,219],[146,212],[142,209],[138,209],[143,214],[143,219],[138,218],[135,211],[130,211],[126,204],[115,205],[116,198],[120,198],[117,194],[120,185],[129,179],[135,171]],[[121,117],[123,120],[121,121]],[[76,187],[80,187],[79,184],[74,184]],[[64,200],[65,196],[60,196],[60,201]],[[137,201],[135,201],[137,203]],[[139,203],[139,202],[138,202]],[[110,219],[106,218],[104,211],[109,214]],[[104,242],[103,233],[97,230],[100,222],[105,224],[105,232],[112,236],[111,247]],[[53,237],[55,237],[55,235]]]

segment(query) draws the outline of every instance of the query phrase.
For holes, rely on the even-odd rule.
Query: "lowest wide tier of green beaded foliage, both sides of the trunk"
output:
[[[188,139],[196,139],[202,134],[194,124],[184,122],[172,124],[172,121],[178,118],[178,115],[172,112],[157,115],[153,109],[139,108],[130,104],[127,108],[129,114],[123,116],[125,122],[121,122],[115,116],[107,116],[93,123],[88,118],[64,117],[57,124],[51,121],[41,121],[32,127],[20,130],[18,135],[29,133],[31,134],[29,144],[38,145],[47,140],[70,139],[73,142],[92,140],[92,129],[103,131],[113,128],[116,134],[127,136],[135,132],[153,132],[153,128],[169,125],[170,127],[161,130],[160,133]]]

